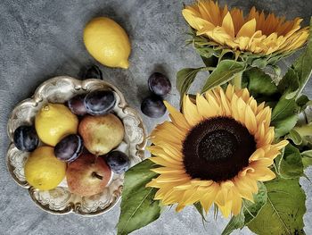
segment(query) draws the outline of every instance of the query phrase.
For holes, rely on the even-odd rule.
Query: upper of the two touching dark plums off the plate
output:
[[[171,91],[171,83],[168,78],[160,72],[154,72],[148,79],[148,86],[152,93],[164,97]]]

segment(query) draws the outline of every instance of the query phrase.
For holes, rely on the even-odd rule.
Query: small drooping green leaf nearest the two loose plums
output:
[[[205,68],[186,68],[177,72],[177,90],[180,96],[184,96],[188,89],[191,87],[196,78],[197,72],[203,71]]]

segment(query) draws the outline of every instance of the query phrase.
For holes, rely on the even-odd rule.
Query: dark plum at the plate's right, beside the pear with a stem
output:
[[[130,160],[126,154],[120,151],[113,151],[104,156],[106,163],[111,167],[111,171],[121,174],[127,172],[130,167]]]

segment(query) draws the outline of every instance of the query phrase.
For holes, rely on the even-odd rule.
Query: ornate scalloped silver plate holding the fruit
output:
[[[37,88],[33,97],[22,101],[12,111],[7,124],[7,133],[11,140],[6,155],[8,170],[21,187],[29,190],[29,195],[36,205],[48,213],[76,213],[89,216],[107,212],[119,200],[123,186],[123,174],[113,174],[103,193],[92,197],[79,197],[70,193],[66,179],[56,189],[48,191],[34,189],[28,184],[24,175],[24,164],[29,153],[22,152],[14,146],[14,130],[21,125],[33,124],[37,111],[47,102],[64,103],[70,97],[100,88],[111,89],[117,97],[113,111],[119,116],[125,127],[125,138],[118,147],[119,150],[124,151],[130,157],[131,165],[141,162],[144,159],[146,145],[144,123],[139,114],[127,105],[119,89],[103,80],[76,80],[68,76],[46,80]]]

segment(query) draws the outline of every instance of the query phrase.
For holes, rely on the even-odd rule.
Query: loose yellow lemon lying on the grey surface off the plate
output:
[[[127,69],[131,46],[127,33],[119,24],[107,17],[94,18],[84,30],[86,50],[98,62]]]

